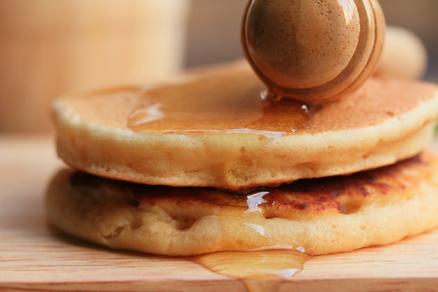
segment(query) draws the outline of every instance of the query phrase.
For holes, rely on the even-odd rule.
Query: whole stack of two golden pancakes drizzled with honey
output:
[[[271,102],[246,62],[62,97],[50,222],[170,256],[260,248],[318,255],[438,226],[425,150],[438,88],[371,78],[338,101]],[[192,110],[190,110],[192,109]]]

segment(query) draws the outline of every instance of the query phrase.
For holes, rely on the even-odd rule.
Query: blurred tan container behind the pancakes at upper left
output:
[[[183,66],[189,0],[0,0],[0,132],[50,129],[66,92]]]

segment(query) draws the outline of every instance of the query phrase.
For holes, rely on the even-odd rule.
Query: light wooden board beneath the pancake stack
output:
[[[52,144],[0,136],[0,291],[247,291],[190,260],[112,251],[50,230],[44,190],[63,167]],[[438,230],[312,258],[278,290],[438,291]]]

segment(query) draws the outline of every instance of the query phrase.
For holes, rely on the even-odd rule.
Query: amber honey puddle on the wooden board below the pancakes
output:
[[[221,251],[189,258],[211,272],[241,279],[249,292],[277,292],[301,271],[309,254],[294,249]]]

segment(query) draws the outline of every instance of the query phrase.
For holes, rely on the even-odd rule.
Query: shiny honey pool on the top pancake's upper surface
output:
[[[236,132],[279,137],[306,127],[310,111],[291,99],[272,101],[249,71],[206,72],[146,90],[128,127],[136,132]]]

